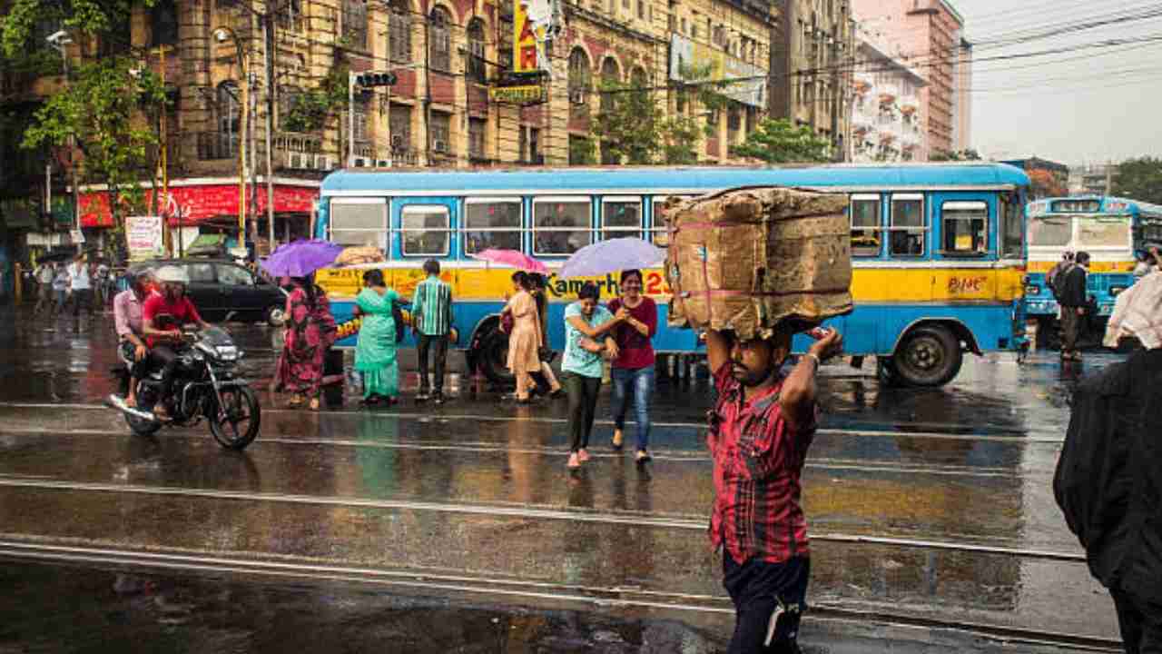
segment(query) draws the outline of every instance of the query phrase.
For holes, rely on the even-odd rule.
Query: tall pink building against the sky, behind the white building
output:
[[[964,19],[948,0],[852,0],[860,22],[875,22],[902,58],[924,74],[920,106],[928,151],[956,151],[971,143],[969,85],[971,50]]]

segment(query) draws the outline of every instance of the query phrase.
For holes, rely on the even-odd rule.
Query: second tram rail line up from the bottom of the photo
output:
[[[568,511],[559,509],[538,509],[532,506],[504,506],[462,503],[437,503],[409,499],[365,499],[352,497],[322,497],[275,492],[229,491],[217,489],[188,489],[174,486],[146,486],[137,484],[105,484],[95,482],[66,482],[49,479],[26,479],[0,475],[0,486],[36,488],[44,490],[93,491],[123,495],[156,495],[167,497],[195,497],[200,499],[232,499],[250,502],[270,502],[284,504],[344,506],[360,509],[386,509],[404,511],[430,511],[438,513],[464,513],[469,516],[489,516],[498,518],[530,518],[538,520],[565,520],[574,523],[593,523],[604,525],[630,525],[657,528],[674,528],[684,531],[705,531],[706,521],[673,517],[655,517],[644,513],[611,513],[602,511]],[[891,547],[916,547],[951,552],[969,552],[975,554],[997,554],[1023,559],[1042,559],[1052,561],[1084,562],[1083,554],[1055,552],[1047,549],[1025,549],[999,547],[967,542],[951,542],[921,539],[902,539],[890,536],[868,536],[842,533],[811,534],[812,540],[845,542],[858,545],[882,545]]]

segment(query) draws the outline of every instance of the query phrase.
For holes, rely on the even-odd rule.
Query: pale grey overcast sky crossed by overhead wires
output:
[[[1162,156],[1162,15],[1002,45],[1000,37],[1056,31],[1153,10],[1145,0],[953,0],[975,49],[971,142],[985,156],[1066,164]],[[1107,40],[1152,43],[1081,49]],[[1043,57],[996,59],[1071,49]],[[989,61],[992,59],[992,61]]]

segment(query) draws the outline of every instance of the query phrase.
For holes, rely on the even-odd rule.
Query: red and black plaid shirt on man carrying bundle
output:
[[[782,563],[808,556],[799,475],[816,427],[791,432],[781,415],[780,381],[746,401],[730,363],[715,372],[718,404],[710,412],[706,443],[715,458],[715,507],[710,540],[734,561],[761,556]]]

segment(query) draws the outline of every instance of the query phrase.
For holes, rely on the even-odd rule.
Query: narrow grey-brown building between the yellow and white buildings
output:
[[[854,21],[846,0],[779,0],[772,31],[772,118],[810,126],[847,152]]]

